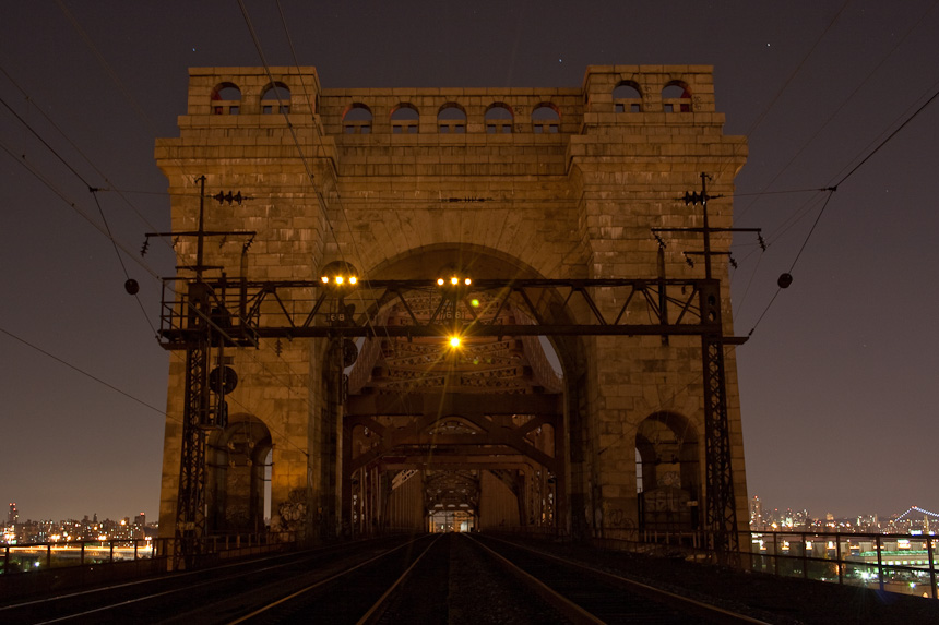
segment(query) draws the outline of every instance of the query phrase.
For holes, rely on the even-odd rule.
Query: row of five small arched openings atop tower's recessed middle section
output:
[[[416,134],[420,115],[411,103],[402,103],[391,111],[391,132],[394,134]],[[354,103],[343,113],[345,134],[369,134],[372,125],[371,109],[362,103]],[[542,103],[532,111],[532,131],[535,133],[557,133],[560,130],[560,111],[551,103]],[[483,125],[489,134],[512,132],[515,113],[504,103],[494,103],[486,109]],[[437,131],[441,134],[464,134],[466,132],[466,111],[456,103],[447,103],[437,110]]]

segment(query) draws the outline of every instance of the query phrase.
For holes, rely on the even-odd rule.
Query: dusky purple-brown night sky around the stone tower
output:
[[[813,516],[939,509],[939,101],[853,171],[939,91],[939,2],[247,0],[275,65],[295,64],[278,4],[324,88],[713,64],[725,133],[749,140],[736,226],[770,243],[738,236],[732,274],[736,334],[756,327],[737,348],[750,496]],[[261,61],[237,1],[0,0],[0,503],[155,519],[170,357],[154,275],[174,259],[136,253],[169,227],[154,139],[178,134],[189,67]]]

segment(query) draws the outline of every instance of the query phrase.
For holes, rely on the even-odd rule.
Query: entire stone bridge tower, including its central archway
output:
[[[689,266],[685,254],[700,239],[663,236],[663,248],[651,229],[701,226],[700,207],[679,199],[702,172],[724,196],[710,205],[712,226],[730,227],[747,146],[724,135],[723,122],[712,70],[700,65],[589,67],[580,88],[379,89],[322,88],[311,67],[197,68],[179,137],[158,140],[156,160],[174,231],[197,228],[197,178],[209,196],[240,192],[240,203],[205,200],[206,230],[255,232],[250,245],[245,237],[205,243],[210,272],[233,284],[334,274],[428,284],[451,274],[700,278],[702,264]],[[712,240],[717,252],[729,243]],[[178,264],[191,266],[195,242],[180,237],[175,247]],[[729,335],[726,256],[714,257],[714,275]],[[287,305],[316,298],[305,289]],[[593,293],[606,312],[622,305],[618,297]],[[373,318],[408,323],[432,302],[411,305],[385,305]],[[547,296],[534,307],[551,323],[591,314]],[[536,323],[520,308],[492,314]],[[225,352],[238,385],[227,423],[207,434],[210,531],[263,529],[268,515],[278,529],[323,539],[451,525],[581,536],[702,527],[697,337],[496,337],[459,357],[430,339],[379,337],[359,339],[343,364],[330,345],[261,337]],[[176,518],[185,369],[171,360],[165,536]],[[742,524],[733,349],[726,373]]]

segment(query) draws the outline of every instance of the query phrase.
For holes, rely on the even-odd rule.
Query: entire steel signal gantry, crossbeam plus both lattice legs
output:
[[[415,298],[423,298],[421,303],[431,298],[432,312],[415,314],[419,308]],[[487,304],[476,312],[480,300]],[[207,372],[212,352],[221,352],[226,345],[257,346],[261,338],[448,337],[454,333],[463,337],[661,335],[701,337],[705,518],[715,551],[726,561],[737,551],[738,539],[724,346],[746,339],[724,336],[721,301],[716,279],[479,279],[450,288],[429,280],[361,280],[354,287],[336,287],[313,280],[168,278],[159,334],[166,349],[187,352],[177,513],[177,536],[186,540],[178,541],[180,549],[193,552],[205,533],[205,429],[224,426],[224,389],[210,395]],[[382,311],[391,307],[406,311],[405,325],[379,322],[384,318]],[[534,323],[500,323],[506,310],[519,310],[520,316]],[[577,310],[581,318],[571,320],[562,312],[567,310]]]

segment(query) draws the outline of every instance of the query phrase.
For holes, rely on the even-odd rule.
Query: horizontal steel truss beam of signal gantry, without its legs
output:
[[[185,288],[164,289],[161,336],[167,349],[192,342]],[[522,279],[476,280],[451,290],[429,280],[369,280],[354,288],[323,286],[314,280],[206,280],[211,318],[234,345],[258,338],[450,336],[454,327],[467,336],[642,336],[721,334],[720,322],[702,317],[702,289],[716,280],[701,279]],[[177,288],[169,288],[176,286]],[[601,297],[598,293],[603,293]],[[168,296],[168,297],[167,297]],[[430,314],[414,311],[414,300],[430,298]],[[488,305],[473,304],[486,298]],[[610,302],[614,302],[610,305]],[[379,323],[380,311],[397,305],[404,324]],[[579,321],[562,321],[550,310],[581,311]],[[532,324],[506,324],[501,314],[516,308]],[[477,310],[480,309],[480,310]]]

